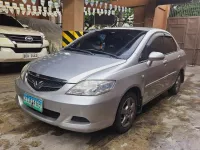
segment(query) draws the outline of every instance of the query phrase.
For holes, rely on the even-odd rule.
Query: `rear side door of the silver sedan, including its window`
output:
[[[170,87],[174,84],[176,77],[179,73],[179,64],[181,61],[181,56],[178,51],[178,47],[174,39],[165,34],[163,36],[164,40],[164,54],[166,60],[166,87]]]

